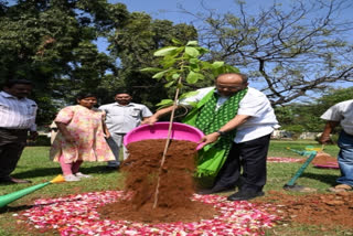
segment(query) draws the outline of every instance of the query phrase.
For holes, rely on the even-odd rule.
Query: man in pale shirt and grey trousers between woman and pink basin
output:
[[[106,114],[106,125],[111,135],[107,142],[115,155],[115,161],[109,161],[107,169],[116,170],[120,165],[119,152],[122,147],[124,160],[127,159],[127,150],[122,146],[124,137],[127,132],[138,127],[141,121],[152,112],[142,104],[131,103],[132,97],[128,92],[119,92],[115,96],[116,103],[99,107]]]

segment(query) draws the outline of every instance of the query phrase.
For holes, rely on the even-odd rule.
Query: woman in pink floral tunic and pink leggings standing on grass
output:
[[[105,137],[109,131],[104,124],[104,112],[94,106],[97,97],[93,93],[76,96],[77,105],[61,109],[55,118],[58,132],[53,141],[50,157],[60,162],[65,181],[90,178],[79,172],[84,161],[114,160]]]

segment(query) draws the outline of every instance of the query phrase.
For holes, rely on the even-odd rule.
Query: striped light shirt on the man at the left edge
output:
[[[0,127],[35,131],[36,104],[29,98],[18,98],[0,93]]]

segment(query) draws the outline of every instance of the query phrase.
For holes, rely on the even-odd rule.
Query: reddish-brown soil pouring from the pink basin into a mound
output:
[[[196,143],[172,140],[160,171],[164,144],[165,140],[143,140],[127,147],[129,158],[121,170],[126,174],[125,190],[131,197],[101,207],[103,217],[153,224],[197,222],[217,215],[212,205],[191,201],[195,192]],[[158,176],[160,186],[153,207]]]

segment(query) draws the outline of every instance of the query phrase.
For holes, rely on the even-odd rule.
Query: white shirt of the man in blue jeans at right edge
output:
[[[343,130],[353,136],[353,99],[330,107],[321,117],[324,120],[340,121]]]

